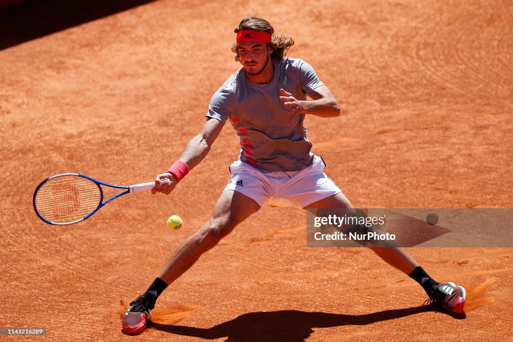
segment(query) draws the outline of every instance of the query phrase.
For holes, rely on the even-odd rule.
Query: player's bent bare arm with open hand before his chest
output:
[[[326,86],[315,88],[310,97],[311,101],[298,100],[285,89],[280,89],[280,100],[284,102],[284,106],[289,110],[290,120],[298,114],[312,114],[321,117],[334,117],[340,115],[340,106],[333,94]]]

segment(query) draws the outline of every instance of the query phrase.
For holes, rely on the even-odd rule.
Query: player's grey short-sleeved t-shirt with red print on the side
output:
[[[280,88],[305,100],[324,85],[313,68],[297,58],[274,61],[274,76],[267,84],[251,83],[244,68],[231,75],[210,99],[207,117],[229,119],[241,139],[239,159],[268,171],[297,171],[312,162],[312,144],[303,126],[305,114],[294,117],[290,126]]]

